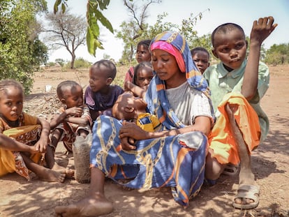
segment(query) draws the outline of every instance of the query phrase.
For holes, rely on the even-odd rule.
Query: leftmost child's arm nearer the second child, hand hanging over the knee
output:
[[[37,118],[37,124],[40,124],[42,127],[40,139],[36,142],[36,149],[39,149],[41,153],[46,151],[48,136],[50,134],[50,124],[45,119]]]

